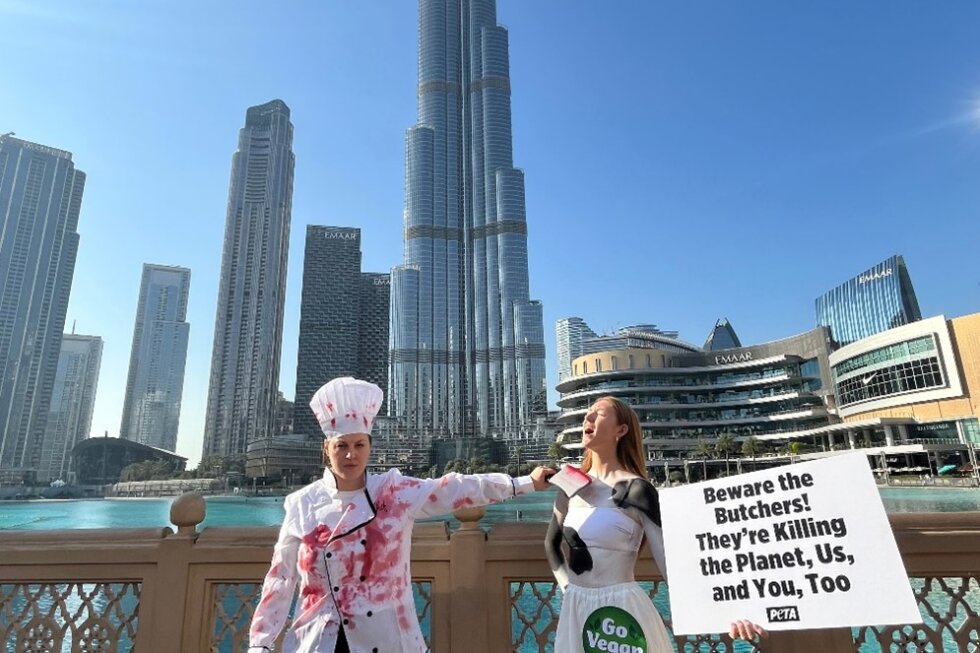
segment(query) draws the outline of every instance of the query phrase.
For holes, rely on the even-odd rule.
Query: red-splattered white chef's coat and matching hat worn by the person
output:
[[[370,383],[334,379],[310,406],[328,438],[368,433],[383,395]],[[272,566],[249,632],[249,653],[271,650],[299,584],[283,641],[286,653],[333,653],[343,627],[352,653],[421,653],[409,570],[419,517],[509,499],[533,490],[530,477],[368,474],[360,490],[340,491],[330,470],[286,497]]]

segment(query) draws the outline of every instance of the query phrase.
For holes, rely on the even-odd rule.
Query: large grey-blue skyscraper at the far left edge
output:
[[[37,471],[84,188],[70,152],[0,136],[0,481]]]

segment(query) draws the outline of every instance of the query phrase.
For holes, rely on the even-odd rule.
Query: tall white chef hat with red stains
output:
[[[310,408],[327,438],[349,433],[371,435],[374,416],[381,408],[381,388],[350,376],[330,381],[316,391]]]

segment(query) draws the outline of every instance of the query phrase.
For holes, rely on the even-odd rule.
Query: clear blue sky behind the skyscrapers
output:
[[[191,268],[178,453],[207,403],[231,155],[245,109],[295,125],[281,388],[295,383],[305,225],[402,260],[411,0],[0,0],[0,132],[88,173],[67,327],[105,353],[119,429],[144,262]],[[554,322],[703,342],[812,328],[813,300],[893,253],[924,315],[980,310],[980,3],[498,0],[532,297]]]

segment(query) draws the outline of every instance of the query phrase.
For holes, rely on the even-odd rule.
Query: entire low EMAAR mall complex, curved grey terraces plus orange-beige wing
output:
[[[612,395],[639,415],[652,470],[690,464],[699,440],[723,434],[736,455],[749,438],[785,452],[767,456],[773,463],[793,449],[807,459],[861,448],[883,468],[929,474],[975,464],[980,446],[980,314],[919,320],[836,350],[822,326],[751,347],[592,352],[571,370],[557,388],[561,442],[580,448],[588,407]]]

